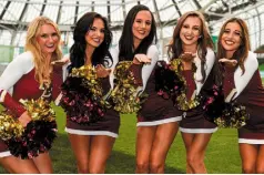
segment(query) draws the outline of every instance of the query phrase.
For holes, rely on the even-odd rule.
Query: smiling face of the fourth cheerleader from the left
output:
[[[201,35],[202,22],[199,17],[187,17],[183,22],[180,38],[184,47],[195,47],[197,45],[197,40]]]

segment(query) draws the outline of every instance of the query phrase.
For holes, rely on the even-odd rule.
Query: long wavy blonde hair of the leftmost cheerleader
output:
[[[54,27],[55,32],[58,33],[60,43],[61,33],[59,31],[58,25],[47,17],[38,17],[35,18],[28,27],[27,39],[26,39],[26,51],[30,51],[33,54],[33,62],[35,69],[35,80],[43,85],[43,83],[51,82],[50,71],[52,71],[51,64],[45,64],[45,55],[41,51],[41,48],[37,41],[37,37],[40,34],[40,28],[43,24],[51,24]],[[60,60],[62,58],[62,52],[60,49],[60,44],[58,44],[55,51],[51,55],[51,62],[55,60]]]

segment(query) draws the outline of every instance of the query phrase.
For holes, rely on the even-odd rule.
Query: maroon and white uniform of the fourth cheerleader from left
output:
[[[189,100],[192,97],[193,93],[199,95],[203,89],[210,89],[213,86],[213,72],[211,72],[211,70],[214,60],[214,52],[211,49],[207,49],[205,63],[206,79],[204,84],[201,83],[201,60],[197,56],[194,58],[194,63],[197,68],[195,75],[192,70],[183,71],[183,76],[185,78],[187,85],[186,97]],[[183,133],[214,133],[217,131],[217,126],[204,117],[204,110],[202,109],[202,105],[200,105],[183,113],[183,119],[180,122],[180,131]]]

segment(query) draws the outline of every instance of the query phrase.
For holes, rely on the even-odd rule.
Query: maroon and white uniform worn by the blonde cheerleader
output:
[[[51,92],[40,87],[35,80],[35,69],[31,52],[18,55],[0,76],[0,103],[7,107],[16,117],[19,117],[26,110],[19,103],[20,99],[37,100],[44,95],[55,100],[60,93],[62,83],[62,68],[54,66],[51,76]],[[0,157],[11,155],[8,146],[0,140]]]

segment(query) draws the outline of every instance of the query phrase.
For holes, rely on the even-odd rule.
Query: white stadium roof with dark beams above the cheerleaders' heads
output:
[[[251,33],[257,40],[255,48],[263,44],[263,0],[0,0],[0,40],[9,35],[11,45],[20,45],[28,23],[38,16],[49,17],[62,33],[68,33],[88,11],[106,17],[111,29],[120,32],[128,11],[138,3],[148,6],[154,13],[160,38],[172,35],[177,18],[184,12],[199,10],[205,14],[212,34],[217,35],[225,19],[237,16],[254,27]]]

